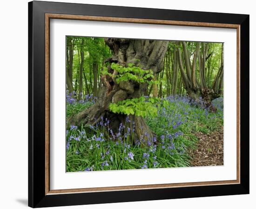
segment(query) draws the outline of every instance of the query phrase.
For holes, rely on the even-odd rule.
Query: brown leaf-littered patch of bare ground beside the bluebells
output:
[[[189,150],[191,166],[223,165],[223,126],[209,134],[198,132],[197,148]]]

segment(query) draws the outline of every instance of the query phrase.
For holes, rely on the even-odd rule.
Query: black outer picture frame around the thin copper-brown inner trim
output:
[[[45,14],[240,25],[240,183],[46,194]],[[33,208],[249,194],[249,15],[32,1],[28,3],[28,206]]]

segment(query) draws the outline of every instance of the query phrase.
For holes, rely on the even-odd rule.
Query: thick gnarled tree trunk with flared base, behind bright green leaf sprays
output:
[[[118,63],[127,66],[129,63],[140,64],[144,70],[151,69],[154,74],[161,72],[163,68],[163,58],[165,56],[168,41],[162,40],[139,40],[139,39],[112,39],[106,38],[105,43],[113,51],[113,57],[108,59],[109,63]],[[116,75],[111,65],[108,65],[108,72]],[[140,85],[133,81],[116,83],[115,78],[109,75],[101,75],[103,84],[96,103],[87,110],[81,111],[70,119],[70,124],[84,126],[94,125],[101,118],[110,120],[110,128],[115,131],[119,124],[125,123],[126,115],[115,114],[109,111],[110,103],[117,103],[128,98],[139,98],[144,91],[145,85]],[[149,129],[144,119],[130,116],[130,121],[126,121],[126,126],[134,127],[135,140],[152,142],[154,133]]]

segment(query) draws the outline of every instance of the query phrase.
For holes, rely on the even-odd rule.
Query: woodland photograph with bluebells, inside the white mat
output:
[[[222,166],[223,48],[66,36],[66,172]]]

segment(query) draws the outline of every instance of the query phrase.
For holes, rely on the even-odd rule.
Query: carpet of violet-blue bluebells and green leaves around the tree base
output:
[[[162,105],[165,100],[168,105]],[[95,101],[96,98],[90,95],[77,101],[72,93],[67,94],[67,118],[90,107]],[[216,112],[205,109],[202,99],[195,102],[178,95],[163,98],[158,103],[155,104],[157,116],[145,118],[156,134],[147,146],[139,141],[131,143],[134,129],[126,127],[126,124],[120,124],[118,131],[112,131],[108,118],[101,118],[89,129],[67,126],[67,172],[190,166],[187,150],[196,148],[198,139],[195,133],[210,133],[223,125],[223,98],[212,101]],[[129,120],[127,117],[126,122]]]

